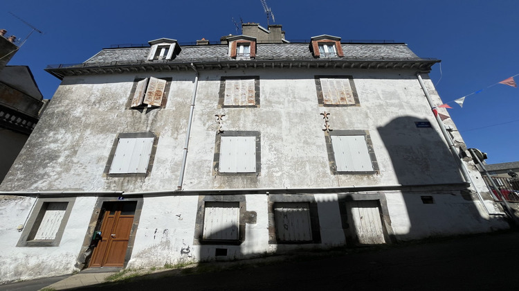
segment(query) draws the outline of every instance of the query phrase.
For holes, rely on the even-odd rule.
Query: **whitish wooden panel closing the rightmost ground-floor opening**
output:
[[[348,220],[358,243],[374,245],[385,243],[379,205],[374,200],[347,202]]]

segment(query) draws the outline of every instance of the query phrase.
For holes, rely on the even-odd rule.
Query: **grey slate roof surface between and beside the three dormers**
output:
[[[351,60],[421,60],[406,44],[342,44],[343,59]],[[105,48],[86,64],[113,61],[145,61],[149,48]],[[226,44],[184,46],[172,62],[211,62],[228,60]],[[309,44],[257,44],[256,60],[313,60]]]

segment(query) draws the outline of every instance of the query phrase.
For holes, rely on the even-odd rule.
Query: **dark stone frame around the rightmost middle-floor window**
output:
[[[373,170],[369,171],[339,171],[337,170],[336,157],[331,136],[364,136],[367,155],[370,157]],[[370,132],[367,130],[333,130],[325,132],[326,148],[328,152],[329,168],[334,175],[376,175],[380,173],[379,164],[376,161],[375,152],[372,145]]]

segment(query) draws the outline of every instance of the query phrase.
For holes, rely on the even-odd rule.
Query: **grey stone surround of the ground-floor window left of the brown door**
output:
[[[46,207],[48,204],[53,202],[66,202],[66,210],[63,218],[60,222],[56,235],[53,240],[35,240],[34,236],[41,226],[42,219],[44,218]],[[66,224],[69,222],[69,218],[74,206],[75,197],[68,198],[37,198],[33,212],[30,213],[29,219],[24,225],[24,230],[18,240],[16,247],[59,247],[63,233],[66,228]]]

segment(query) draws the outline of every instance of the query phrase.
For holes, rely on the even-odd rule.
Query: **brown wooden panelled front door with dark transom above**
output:
[[[124,267],[137,202],[105,202],[101,240],[89,267]]]

